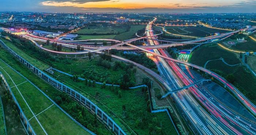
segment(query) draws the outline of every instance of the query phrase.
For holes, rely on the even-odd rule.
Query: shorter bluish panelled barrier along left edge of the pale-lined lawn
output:
[[[27,119],[26,115],[22,111],[22,108],[20,107],[18,100],[15,98],[14,93],[11,90],[11,87],[9,86],[9,84],[7,83],[7,80],[4,78],[4,75],[1,72],[0,72],[0,77],[1,77],[1,82],[3,82],[3,84],[4,84],[4,87],[6,88],[7,91],[10,92],[12,100],[14,100],[15,106],[17,107],[17,111],[19,114],[19,118],[20,118],[23,126],[25,127],[27,134],[36,135],[34,129],[32,128],[31,124],[29,123],[29,120]]]

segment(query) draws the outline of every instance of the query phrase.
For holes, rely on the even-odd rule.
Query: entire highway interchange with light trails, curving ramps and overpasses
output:
[[[221,76],[215,74],[214,72],[206,70],[202,67],[199,67],[197,65],[172,59],[171,56],[169,56],[168,53],[164,49],[162,49],[169,46],[177,46],[177,45],[184,45],[184,44],[203,44],[203,41],[205,41],[205,43],[209,43],[215,39],[222,40],[233,35],[234,33],[239,32],[240,30],[224,33],[217,36],[204,37],[200,39],[182,41],[182,42],[172,42],[172,43],[169,42],[168,44],[159,45],[159,41],[157,39],[158,34],[154,35],[153,28],[152,28],[152,24],[154,23],[155,20],[151,21],[146,26],[146,36],[144,37],[139,37],[139,38],[131,39],[128,41],[100,39],[105,41],[118,42],[117,44],[112,46],[95,47],[93,45],[76,44],[68,41],[63,42],[63,41],[51,40],[51,42],[57,42],[58,44],[62,44],[65,47],[76,48],[76,45],[83,45],[85,49],[82,52],[52,51],[50,49],[44,48],[42,45],[39,45],[34,41],[36,40],[36,41],[46,42],[46,39],[42,39],[41,37],[36,37],[31,35],[23,35],[23,36],[33,41],[39,48],[44,49],[45,51],[58,53],[58,54],[65,54],[65,55],[80,55],[80,54],[86,54],[88,52],[103,53],[102,51],[113,49],[113,48],[116,48],[118,50],[140,50],[147,53],[151,53],[152,55],[157,56],[157,63],[158,63],[159,70],[162,71],[165,79],[163,79],[161,76],[159,76],[152,70],[144,67],[143,65],[124,59],[120,56],[112,55],[112,57],[123,60],[128,63],[132,63],[137,67],[141,68],[142,70],[146,71],[148,74],[151,74],[152,76],[157,78],[159,82],[163,83],[163,85],[166,87],[168,91],[174,91],[174,90],[177,90],[178,88],[182,88],[184,86],[188,86],[197,82],[197,78],[195,78],[194,74],[191,71],[191,68],[189,67],[196,68],[200,71],[206,72],[207,74],[211,75],[212,77],[214,77],[215,79],[219,80],[221,83],[226,85],[227,88],[229,88],[230,91],[237,96],[237,98],[241,101],[241,103],[244,104],[244,106],[246,106],[254,115],[256,114],[255,105],[252,104],[243,94],[241,94],[241,92],[237,90],[237,88],[235,88],[232,84],[227,82]],[[253,29],[255,29],[255,27],[253,27]],[[131,44],[131,42],[133,41],[142,40],[145,38],[147,38],[147,43],[148,43],[146,46],[135,46]],[[98,40],[98,39],[94,39],[94,40]],[[81,40],[73,41],[73,42],[81,42]],[[122,46],[122,45],[125,45],[125,46]],[[150,51],[151,49],[153,49],[153,51]],[[193,98],[191,94],[196,96],[196,98],[211,113],[209,114],[207,111],[205,111],[204,108],[202,108],[200,104],[197,103],[197,101]],[[189,87],[185,90],[175,92],[172,94],[172,96],[175,99],[178,106],[180,106],[180,108],[183,110],[187,118],[191,121],[191,123],[193,123],[193,127],[195,127],[197,129],[197,132],[199,132],[200,134],[254,134],[256,135],[255,119],[252,119],[251,121],[245,120],[240,116],[238,116],[237,114],[235,114],[234,112],[227,109],[226,107],[224,107],[221,103],[215,100],[207,92],[205,87],[203,87],[203,84],[196,84],[193,87]]]

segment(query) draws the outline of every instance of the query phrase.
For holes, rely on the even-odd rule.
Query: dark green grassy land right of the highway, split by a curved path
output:
[[[189,58],[189,62],[204,66],[206,61],[219,59],[220,57],[224,58],[224,60],[229,64],[237,64],[240,63],[240,59],[238,58],[238,54],[236,55],[233,52],[226,51],[217,45],[203,45],[200,48],[197,48]],[[256,77],[249,72],[243,65],[237,65],[230,67],[224,64],[221,60],[211,61],[206,66],[207,69],[216,72],[222,77],[226,77],[227,74],[233,74],[235,76],[234,86],[238,88],[248,99],[252,101],[252,103],[256,103]]]

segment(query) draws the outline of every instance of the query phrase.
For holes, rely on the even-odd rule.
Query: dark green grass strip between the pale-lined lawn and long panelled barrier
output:
[[[62,92],[60,92],[59,90],[52,87],[50,84],[46,83],[44,80],[36,76],[32,71],[30,71],[27,67],[25,67],[25,65],[22,65],[21,63],[19,63],[19,61],[17,61],[16,58],[11,56],[11,54],[5,51],[5,49],[3,48],[0,48],[0,57],[6,63],[8,63],[11,67],[13,67],[16,71],[20,72],[20,74],[24,75],[27,79],[31,80],[32,83],[34,83],[38,88],[40,88],[43,92],[45,92],[46,95],[48,95],[51,99],[53,99],[56,102],[56,97],[59,97]],[[77,103],[71,98],[69,98],[69,102],[60,102],[58,105],[61,108],[63,108],[66,112],[68,112],[68,114],[71,115],[73,118],[75,118],[76,120],[79,120],[77,119],[77,117],[79,116],[79,112],[74,111],[72,110],[72,108],[70,108],[74,104],[77,104]],[[111,134],[111,132],[101,122],[97,122],[94,124],[94,116],[89,111],[86,110],[84,113],[86,113],[86,120],[83,121],[83,123],[81,124],[83,124],[86,127],[89,126],[87,128],[89,128],[89,130],[97,134],[103,134],[103,135]],[[80,126],[74,125],[72,124],[72,122],[70,122],[68,126],[72,126],[68,128],[80,128]]]

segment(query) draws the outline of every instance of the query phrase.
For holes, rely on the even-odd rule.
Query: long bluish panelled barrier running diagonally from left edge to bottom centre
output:
[[[105,124],[114,134],[117,135],[126,135],[121,127],[119,127],[110,116],[108,116],[104,111],[102,111],[96,104],[91,102],[91,100],[87,99],[84,95],[80,94],[76,90],[68,87],[67,85],[59,82],[58,80],[52,78],[45,72],[39,70],[34,65],[30,64],[27,60],[23,59],[23,57],[19,56],[16,52],[14,52],[11,48],[9,48],[3,41],[0,40],[0,44],[13,56],[15,56],[22,64],[24,64],[27,68],[33,71],[40,78],[44,79],[53,87],[58,90],[67,93],[71,98],[82,104],[87,110],[89,110],[92,114],[96,114],[97,118],[101,120],[103,124]],[[51,69],[49,69],[51,70]]]

